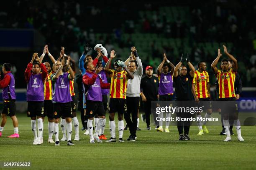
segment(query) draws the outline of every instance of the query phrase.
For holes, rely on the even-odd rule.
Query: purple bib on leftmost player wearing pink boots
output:
[[[11,79],[10,79],[10,84],[3,88],[3,92],[2,92],[2,96],[4,100],[15,100],[16,99],[16,95],[15,95],[15,80],[13,77],[12,73],[7,73],[6,75],[10,75]]]

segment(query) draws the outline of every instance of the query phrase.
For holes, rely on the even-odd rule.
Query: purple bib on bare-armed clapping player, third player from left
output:
[[[72,101],[68,75],[69,73],[64,72],[63,75],[60,75],[59,78],[55,80],[52,97],[53,102],[66,103]]]

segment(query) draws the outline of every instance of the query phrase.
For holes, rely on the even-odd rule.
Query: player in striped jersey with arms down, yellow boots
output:
[[[195,102],[198,107],[203,107],[206,110],[205,118],[209,118],[212,115],[212,105],[210,102],[210,83],[209,83],[209,75],[206,71],[206,63],[203,61],[198,62],[198,69],[195,71],[195,75],[192,82],[192,93],[195,98]],[[202,102],[200,102],[202,101]],[[207,121],[203,123],[199,120],[201,117],[201,113],[197,113],[197,125],[199,127],[199,133],[197,135],[203,135],[205,133],[209,133],[205,124]]]

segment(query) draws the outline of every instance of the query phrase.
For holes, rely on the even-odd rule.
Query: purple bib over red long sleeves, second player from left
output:
[[[27,101],[44,101],[44,83],[42,74],[31,74],[27,84]]]

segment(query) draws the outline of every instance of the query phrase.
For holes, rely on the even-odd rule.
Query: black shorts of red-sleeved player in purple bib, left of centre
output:
[[[96,114],[98,116],[105,116],[103,102],[86,100],[86,103],[87,103],[86,115],[88,117],[94,117]]]

